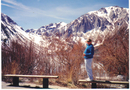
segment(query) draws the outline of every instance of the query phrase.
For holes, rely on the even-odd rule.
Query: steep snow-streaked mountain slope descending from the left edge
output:
[[[4,42],[9,45],[13,40],[18,40],[18,42],[21,43],[32,41],[36,45],[40,45],[40,41],[46,42],[46,40],[43,40],[43,37],[37,34],[26,33],[24,29],[9,16],[1,13],[1,43]]]

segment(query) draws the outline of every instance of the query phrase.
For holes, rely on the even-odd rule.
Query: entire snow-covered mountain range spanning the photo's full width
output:
[[[118,6],[88,12],[68,24],[51,23],[41,26],[39,29],[28,29],[26,32],[7,15],[1,14],[1,40],[7,42],[16,38],[21,41],[35,39],[39,43],[43,38],[40,36],[58,35],[62,38],[69,36],[80,37],[84,40],[91,38],[94,41],[93,44],[97,45],[102,43],[104,37],[115,27],[120,27],[123,23],[127,24],[129,28],[129,9]],[[101,39],[99,40],[99,38]]]

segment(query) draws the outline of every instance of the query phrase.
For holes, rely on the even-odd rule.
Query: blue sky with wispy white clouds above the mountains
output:
[[[129,0],[1,0],[1,12],[24,30],[70,23],[89,11],[109,6],[129,8]]]

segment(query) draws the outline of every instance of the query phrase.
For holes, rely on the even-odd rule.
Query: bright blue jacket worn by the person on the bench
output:
[[[85,56],[84,56],[85,59],[93,58],[94,47],[92,44],[90,44],[90,45],[87,44],[84,54],[85,54]]]

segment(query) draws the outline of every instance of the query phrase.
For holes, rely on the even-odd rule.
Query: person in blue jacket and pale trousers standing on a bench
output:
[[[92,45],[91,39],[88,39],[86,43],[87,43],[87,47],[84,51],[83,56],[84,56],[85,67],[88,75],[87,81],[92,81],[93,80],[92,59],[94,55],[94,47]]]

